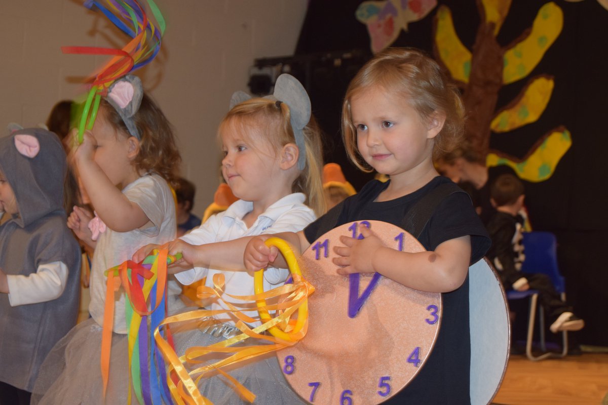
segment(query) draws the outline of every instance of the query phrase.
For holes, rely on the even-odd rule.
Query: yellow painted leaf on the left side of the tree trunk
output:
[[[471,52],[458,38],[450,9],[441,5],[435,15],[435,22],[435,44],[441,61],[454,80],[468,83],[471,74]]]

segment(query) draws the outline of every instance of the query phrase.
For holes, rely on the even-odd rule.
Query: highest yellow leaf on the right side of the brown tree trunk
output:
[[[539,10],[530,35],[506,50],[502,81],[505,84],[520,80],[536,67],[564,26],[564,13],[554,2]]]

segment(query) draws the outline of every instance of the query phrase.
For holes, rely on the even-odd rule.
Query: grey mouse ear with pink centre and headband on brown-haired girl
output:
[[[133,121],[133,115],[139,111],[142,98],[142,81],[135,75],[126,75],[112,83],[112,86],[108,88],[108,95],[105,97],[125,122],[129,133],[139,140],[141,137]]]

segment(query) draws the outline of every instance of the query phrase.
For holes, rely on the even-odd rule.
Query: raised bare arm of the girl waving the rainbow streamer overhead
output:
[[[148,223],[139,205],[130,201],[95,163],[95,138],[85,131],[83,143],[75,152],[78,174],[89,194],[95,212],[111,230],[131,231]],[[126,185],[125,185],[126,186]]]

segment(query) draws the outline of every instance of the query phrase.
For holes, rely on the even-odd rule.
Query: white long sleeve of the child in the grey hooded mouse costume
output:
[[[10,275],[0,269],[0,293],[9,294],[12,307],[51,301],[63,294],[67,267],[63,262],[42,264],[28,276]]]

